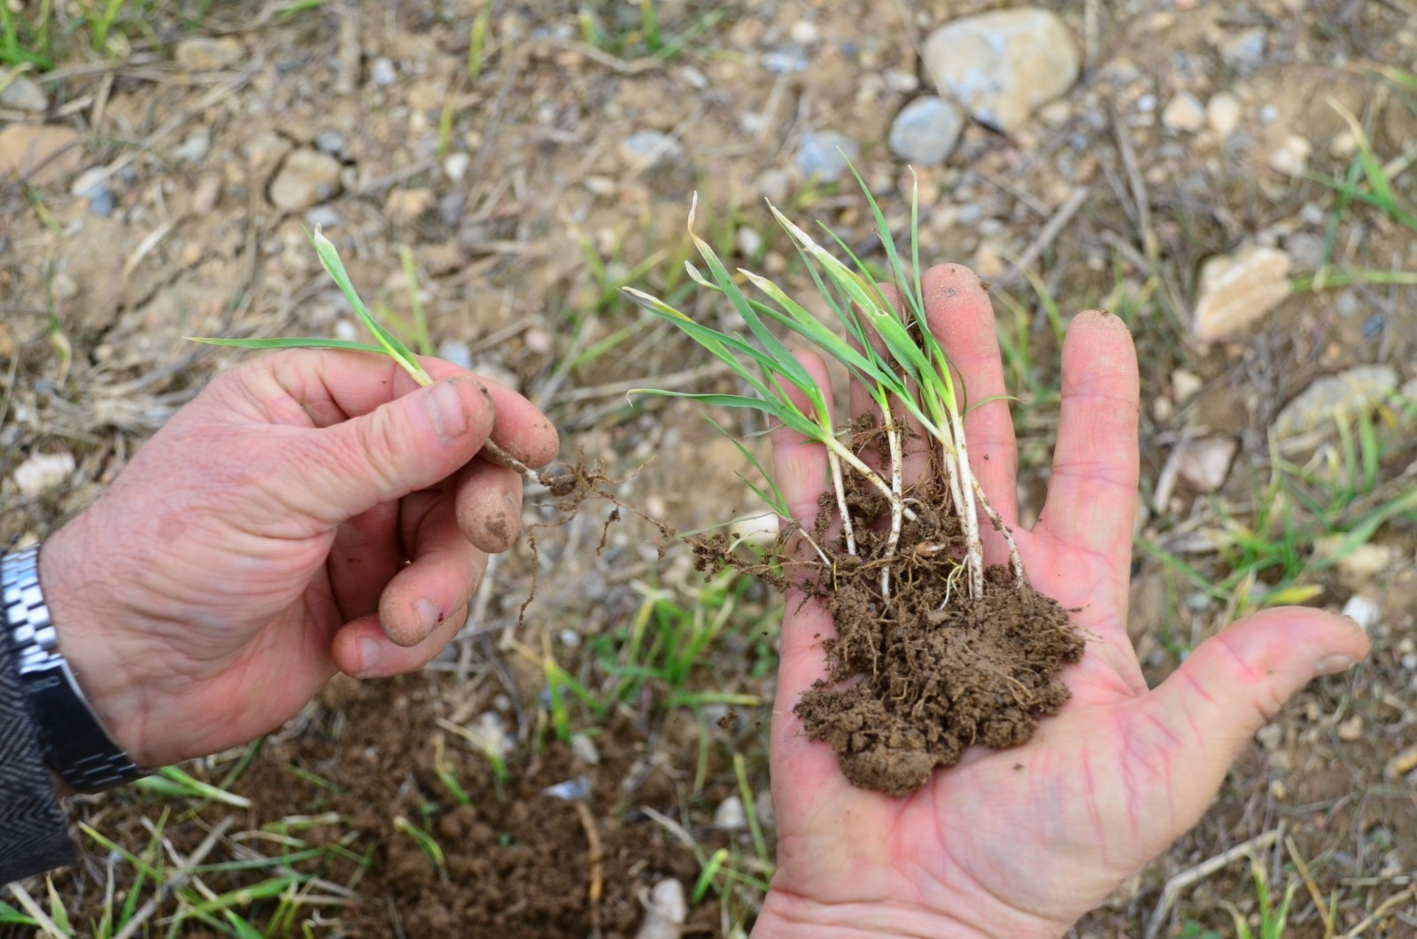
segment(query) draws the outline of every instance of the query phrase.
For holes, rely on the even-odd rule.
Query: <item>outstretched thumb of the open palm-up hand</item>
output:
[[[1172,797],[1190,827],[1230,763],[1260,726],[1318,675],[1367,655],[1353,620],[1306,607],[1278,607],[1240,620],[1202,643],[1144,699],[1138,736],[1168,755]],[[1145,729],[1141,729],[1145,728]]]

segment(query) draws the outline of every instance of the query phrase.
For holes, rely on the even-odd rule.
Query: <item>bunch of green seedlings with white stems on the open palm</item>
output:
[[[730,272],[718,252],[694,234],[696,204],[689,213],[689,234],[707,267],[707,274],[691,265],[687,267],[687,272],[700,288],[721,294],[728,299],[747,323],[751,340],[697,322],[643,291],[626,288],[625,292],[645,309],[682,329],[710,355],[726,363],[750,393],[700,394],[659,389],[638,389],[638,391],[686,397],[711,406],[747,409],[819,443],[826,450],[832,494],[842,519],[843,539],[849,555],[856,555],[857,550],[856,532],[847,509],[843,468],[849,467],[874,487],[890,505],[887,563],[883,563],[880,569],[881,596],[887,600],[891,594],[893,565],[890,560],[900,542],[901,525],[905,519],[915,518],[904,494],[901,474],[903,444],[907,431],[900,424],[900,418],[908,414],[924,430],[945,469],[952,498],[951,508],[965,530],[965,557],[959,565],[959,573],[969,596],[983,594],[983,539],[979,533],[979,511],[1003,535],[1009,546],[1015,580],[1022,584],[1026,574],[1013,536],[989,505],[969,467],[969,447],[964,434],[964,416],[969,410],[965,389],[955,377],[948,356],[925,322],[924,291],[920,281],[918,186],[911,200],[910,272],[907,272],[884,213],[864,180],[859,174],[856,180],[874,216],[877,234],[888,258],[890,278],[904,299],[904,309],[897,312],[891,306],[877,285],[873,271],[830,228],[822,226],[826,240],[833,241],[850,258],[850,264],[837,260],[816,238],[769,204],[774,218],[792,240],[820,298],[845,330],[846,339],[837,336],[768,278],[743,268],[737,271],[737,275]],[[740,278],[751,284],[761,299],[760,296],[748,296],[740,288]],[[888,478],[876,472],[852,447],[842,443],[840,434],[845,428],[832,420],[828,390],[820,387],[796,360],[788,346],[769,328],[769,323],[788,329],[828,357],[839,362],[867,390],[884,421],[891,467]],[[806,407],[799,409],[792,401],[792,394],[803,399]],[[772,506],[771,499],[768,504]]]

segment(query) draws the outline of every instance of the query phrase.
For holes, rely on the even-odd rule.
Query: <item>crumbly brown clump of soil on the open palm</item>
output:
[[[811,549],[788,560],[792,532],[775,550],[775,560],[796,572],[788,576],[826,603],[836,624],[836,637],[823,641],[829,678],[802,695],[796,715],[808,736],[836,750],[852,784],[888,796],[920,789],[975,743],[1003,749],[1027,740],[1039,718],[1068,699],[1057,672],[1083,657],[1083,637],[1067,610],[1009,569],[988,569],[983,594],[969,596],[964,533],[941,508],[949,505],[949,491],[938,477],[907,488],[905,498],[917,518],[904,522],[894,552],[886,532],[888,501],[853,478],[847,505],[856,555],[835,533],[830,494],[812,532],[829,563]],[[704,566],[761,573],[727,552],[721,538],[700,539],[696,548]],[[888,599],[884,567],[891,572]]]

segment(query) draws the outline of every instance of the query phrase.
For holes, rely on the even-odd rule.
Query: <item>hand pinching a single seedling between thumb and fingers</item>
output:
[[[45,542],[60,650],[139,766],[255,739],[337,669],[412,671],[458,633],[521,515],[521,479],[478,451],[540,467],[557,437],[519,394],[424,366],[427,389],[371,355],[237,366]]]

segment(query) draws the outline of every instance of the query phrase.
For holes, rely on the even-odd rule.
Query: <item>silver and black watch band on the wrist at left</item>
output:
[[[38,545],[0,557],[0,596],[6,641],[48,767],[81,793],[116,789],[146,776],[99,723],[60,654],[40,589]]]

